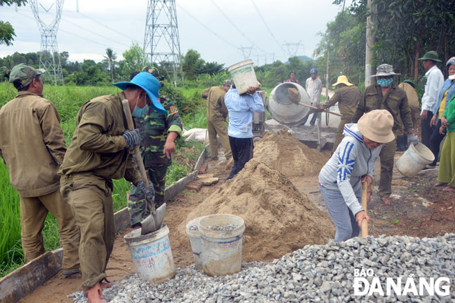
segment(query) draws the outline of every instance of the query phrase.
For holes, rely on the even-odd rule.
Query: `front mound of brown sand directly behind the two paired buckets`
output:
[[[326,244],[335,233],[328,215],[282,173],[256,159],[194,208],[174,235],[180,237],[178,243],[188,245],[185,226],[191,219],[216,213],[245,221],[244,262],[271,261],[306,244]]]

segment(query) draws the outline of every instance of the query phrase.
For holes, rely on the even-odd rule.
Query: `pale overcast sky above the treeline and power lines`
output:
[[[176,0],[181,54],[194,49],[205,61],[228,67],[244,59],[239,48],[245,48],[247,55],[252,47],[248,57],[263,65],[273,59],[287,61],[296,43],[301,43],[296,55],[312,57],[321,39],[318,32],[324,32],[326,23],[342,9],[332,1]],[[39,3],[40,18],[50,24],[56,14],[54,1]],[[346,1],[346,8],[350,3]],[[79,0],[77,12],[77,0],[66,0],[57,34],[59,52],[69,52],[71,61],[100,61],[105,49],[112,48],[122,59],[134,41],[143,46],[147,4],[147,0]],[[17,36],[12,46],[0,46],[0,57],[38,52],[41,34],[30,6],[17,11],[3,6],[0,12],[0,20],[10,22]],[[283,46],[286,43],[293,44],[290,52]]]

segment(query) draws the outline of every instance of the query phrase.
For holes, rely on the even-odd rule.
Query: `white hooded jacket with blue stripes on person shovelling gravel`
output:
[[[319,173],[319,184],[332,190],[340,190],[341,195],[355,215],[363,211],[355,193],[362,187],[364,175],[373,177],[374,163],[381,153],[381,146],[370,149],[363,143],[363,135],[357,124],[345,124],[345,136]]]

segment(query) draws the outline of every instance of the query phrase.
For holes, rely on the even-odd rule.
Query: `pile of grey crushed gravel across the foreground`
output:
[[[361,269],[364,271],[361,271]],[[358,271],[354,271],[357,269]],[[412,277],[427,281],[448,277],[449,295],[354,295],[354,275],[377,277],[385,292],[387,277],[402,277],[403,289]],[[365,276],[363,276],[365,277]],[[209,277],[194,265],[178,268],[162,284],[149,284],[132,274],[103,291],[108,302],[454,302],[455,234],[423,238],[390,236],[354,238],[327,245],[307,245],[270,263],[243,264],[235,275]],[[362,288],[363,289],[363,288]],[[436,289],[436,287],[435,287]],[[73,302],[87,302],[81,292]]]

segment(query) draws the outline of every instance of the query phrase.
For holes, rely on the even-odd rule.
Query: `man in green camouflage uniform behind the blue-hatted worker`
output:
[[[143,71],[158,77],[154,68],[144,68]],[[134,74],[135,72],[132,74],[133,77]],[[164,203],[165,177],[172,163],[171,154],[175,151],[174,141],[182,134],[182,121],[174,102],[165,97],[160,97],[159,101],[168,112],[167,114],[163,115],[149,108],[145,117],[134,118],[141,137],[141,155],[145,170],[148,171],[148,177],[155,191],[156,208]],[[133,227],[139,227],[141,221],[150,215],[144,194],[136,186],[132,186],[130,191],[128,211],[130,211],[130,222]]]

